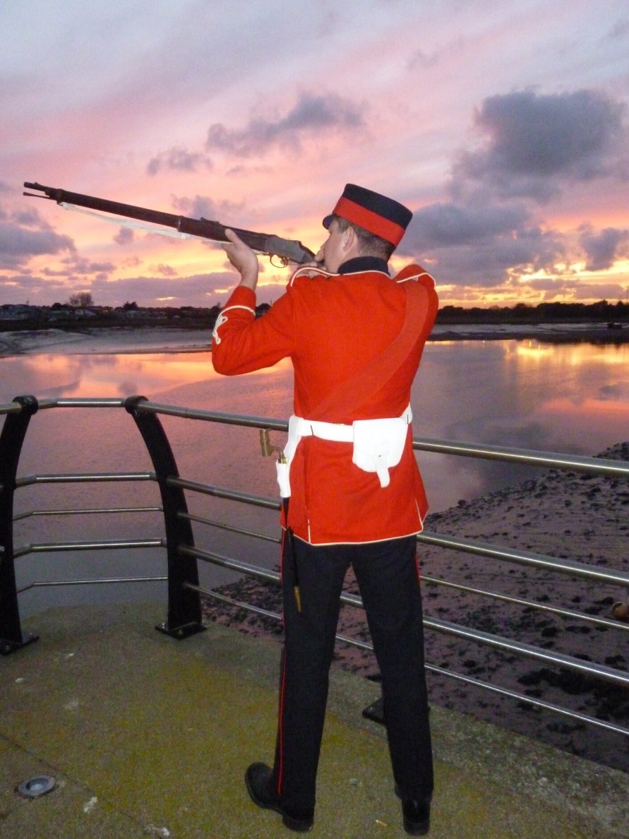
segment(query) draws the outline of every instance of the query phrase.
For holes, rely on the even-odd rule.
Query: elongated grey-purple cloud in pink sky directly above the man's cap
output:
[[[265,154],[274,146],[299,150],[301,141],[309,135],[323,131],[351,133],[364,128],[363,112],[364,106],[335,94],[303,93],[284,117],[252,119],[240,130],[216,122],[208,130],[205,149],[240,158]]]

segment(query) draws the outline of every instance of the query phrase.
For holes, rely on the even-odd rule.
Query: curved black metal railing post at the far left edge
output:
[[[18,396],[13,402],[21,405],[21,410],[7,415],[0,434],[0,654],[3,655],[38,638],[23,633],[19,621],[13,556],[13,494],[24,437],[39,403],[34,396]]]

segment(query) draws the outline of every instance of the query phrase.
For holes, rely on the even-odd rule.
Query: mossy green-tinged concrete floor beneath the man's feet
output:
[[[248,763],[273,756],[278,646],[216,626],[174,641],[155,632],[160,619],[154,604],[29,619],[40,641],[0,662],[0,837],[289,835],[243,783]],[[330,683],[312,836],[404,836],[382,727],[361,717],[377,686],[336,671]],[[575,819],[564,801],[536,795],[540,779],[529,783],[512,759],[526,744],[501,737],[508,734],[434,712],[431,836],[625,835],[616,811],[606,821]],[[508,754],[497,751],[501,743]],[[504,771],[484,766],[483,751],[493,762],[504,756]],[[533,771],[538,753],[529,758]],[[550,776],[568,758],[543,759]],[[581,763],[566,765],[585,773]],[[42,768],[63,785],[24,806],[13,786]],[[617,774],[603,775],[615,795],[629,789]]]

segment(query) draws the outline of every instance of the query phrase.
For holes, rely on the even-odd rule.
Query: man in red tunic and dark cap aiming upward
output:
[[[410,388],[432,329],[434,280],[388,259],[412,213],[353,184],[323,223],[317,266],[255,319],[257,257],[233,233],[224,246],[241,282],[216,323],[212,361],[236,375],[289,356],[294,416],[278,466],[285,505],[284,649],[273,768],[252,763],[249,795],[294,831],[314,822],[328,672],[351,565],[382,674],[403,826],[429,831],[433,791],[424,634],[415,536],[428,509],[413,454]],[[323,265],[323,269],[320,265]],[[299,590],[299,598],[294,596]]]

